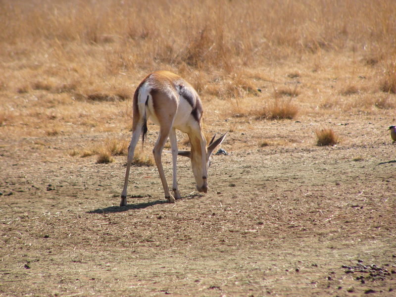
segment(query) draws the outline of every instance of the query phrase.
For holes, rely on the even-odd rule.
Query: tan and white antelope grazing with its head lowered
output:
[[[165,198],[170,203],[174,203],[175,198],[180,198],[176,179],[177,155],[191,159],[191,166],[197,182],[196,189],[198,192],[206,193],[210,155],[214,148],[221,144],[227,133],[216,141],[213,136],[206,148],[206,140],[201,126],[202,104],[197,92],[180,76],[169,71],[157,71],[149,74],[140,83],[133,97],[132,139],[128,147],[127,169],[120,206],[127,205],[129,171],[140,135],[142,135],[142,143],[145,141],[148,118],[159,125],[159,135],[152,153],[164,188]],[[178,151],[176,129],[187,133],[191,151]],[[162,149],[168,137],[172,148],[173,196],[169,192],[161,162]]]

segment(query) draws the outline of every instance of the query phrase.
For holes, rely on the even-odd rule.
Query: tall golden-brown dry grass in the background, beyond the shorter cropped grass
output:
[[[92,69],[99,75],[186,64],[227,76],[352,44],[387,56],[396,36],[393,7],[392,0],[3,0],[0,44],[2,59],[34,58],[37,68],[50,59],[79,76],[92,72],[73,68],[78,61],[100,62]]]

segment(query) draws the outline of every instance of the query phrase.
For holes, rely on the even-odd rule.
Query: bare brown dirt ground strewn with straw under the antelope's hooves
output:
[[[103,133],[1,140],[0,296],[395,296],[389,118],[208,122],[240,129],[212,158],[208,194],[179,160],[175,204],[155,167],[134,167],[119,207],[125,156],[66,153]],[[340,145],[314,145],[324,122]]]

